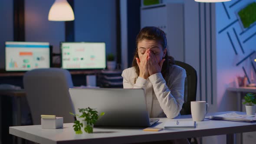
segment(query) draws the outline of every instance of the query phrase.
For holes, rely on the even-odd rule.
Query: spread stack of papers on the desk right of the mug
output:
[[[256,115],[239,115],[236,112],[230,112],[223,115],[210,116],[209,119],[224,121],[256,121]]]

